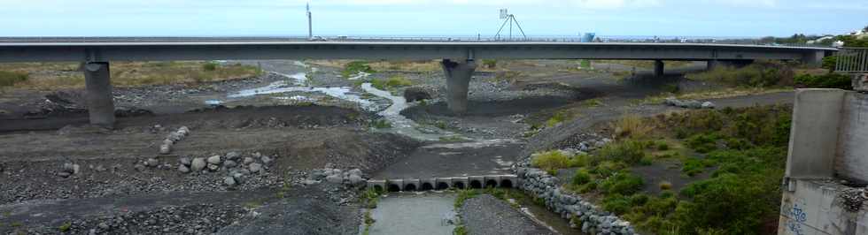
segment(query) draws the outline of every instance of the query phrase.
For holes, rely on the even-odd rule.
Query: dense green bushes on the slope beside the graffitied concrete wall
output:
[[[602,208],[648,233],[761,234],[764,224],[774,224],[778,216],[791,115],[788,106],[756,106],[645,118],[642,121],[662,130],[648,133],[647,139],[675,137],[672,141],[704,157],[670,156],[682,145],[627,134],[598,150],[591,158],[599,162],[577,172],[568,188],[599,193]],[[630,168],[647,159],[639,156],[653,151],[680,161],[682,167],[675,171],[686,177],[713,172],[681,188],[680,199],[668,181],[658,183],[663,191],[659,195],[639,193],[643,179]]]

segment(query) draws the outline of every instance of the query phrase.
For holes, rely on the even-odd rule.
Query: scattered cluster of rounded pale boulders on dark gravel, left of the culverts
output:
[[[242,156],[237,152],[229,152],[226,155],[211,155],[208,157],[180,157],[178,158],[178,171],[190,172],[216,172],[223,171],[227,175],[223,178],[226,186],[244,184],[245,179],[252,174],[259,174],[268,170],[275,159],[259,152],[248,156]]]

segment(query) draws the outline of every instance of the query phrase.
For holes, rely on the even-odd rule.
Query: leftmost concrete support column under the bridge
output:
[[[114,128],[114,96],[108,62],[84,64],[90,124]]]

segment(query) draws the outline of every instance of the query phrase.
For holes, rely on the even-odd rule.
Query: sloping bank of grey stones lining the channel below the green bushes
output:
[[[566,193],[560,187],[559,179],[546,171],[531,168],[528,163],[521,163],[515,167],[515,174],[523,179],[519,188],[546,201],[547,208],[564,219],[570,219],[570,225],[581,228],[582,232],[635,234],[630,222],[598,208],[581,196]]]

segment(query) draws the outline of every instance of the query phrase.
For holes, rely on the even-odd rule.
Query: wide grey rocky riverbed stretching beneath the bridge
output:
[[[376,111],[390,102],[353,87],[357,81],[340,76],[340,68],[244,63],[267,72],[244,80],[115,88],[119,118],[113,130],[87,125],[81,90],[4,91],[0,233],[356,234],[362,221],[355,186],[360,178],[505,173],[539,149],[594,144],[585,140],[600,139],[588,132],[596,123],[624,113],[684,109],[636,105],[632,99],[659,93],[661,82],[619,80],[611,71],[630,68],[617,65],[588,72],[569,61],[530,61],[505,65],[515,73],[477,72],[464,116],[446,110],[439,72],[370,75],[412,80],[413,89],[430,99],[401,113],[420,128],[462,137],[420,141],[371,131]],[[295,82],[298,72],[314,78],[298,86],[347,87],[349,95],[369,103],[306,90],[229,97]],[[713,102],[739,106],[791,96]],[[532,137],[526,134],[529,123],[539,121],[535,118],[588,99],[603,104]],[[496,229],[507,228],[500,225],[515,224],[506,231],[547,232],[503,201],[483,196],[468,202],[471,209],[463,217],[474,224],[471,231],[500,234]],[[479,214],[484,211],[492,213]]]

